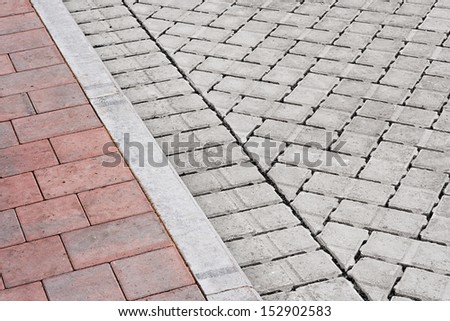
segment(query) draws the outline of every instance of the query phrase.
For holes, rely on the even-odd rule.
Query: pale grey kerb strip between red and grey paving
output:
[[[94,109],[123,152],[124,133],[144,146],[153,159],[165,159],[130,101],[115,84],[61,0],[33,0],[41,19],[90,98]],[[225,244],[170,165],[139,167],[137,149],[127,162],[169,230],[206,296],[251,287]],[[255,300],[260,300],[252,292]]]

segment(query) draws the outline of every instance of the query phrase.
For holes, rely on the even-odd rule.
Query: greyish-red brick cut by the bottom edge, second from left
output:
[[[109,264],[46,279],[44,287],[53,301],[125,300]]]

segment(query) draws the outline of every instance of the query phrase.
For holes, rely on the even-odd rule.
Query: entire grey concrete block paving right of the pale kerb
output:
[[[450,9],[419,2],[66,5],[163,148],[213,146],[165,151],[264,298],[448,299]]]

